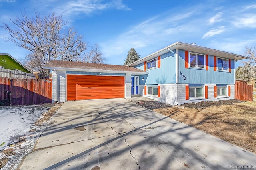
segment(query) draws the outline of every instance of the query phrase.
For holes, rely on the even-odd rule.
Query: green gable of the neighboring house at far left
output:
[[[0,53],[0,66],[4,67],[4,69],[10,69],[10,70],[21,70],[26,73],[32,73],[28,68],[26,68],[24,65],[22,65],[19,61],[17,61],[14,57],[12,57],[10,54],[6,53]]]

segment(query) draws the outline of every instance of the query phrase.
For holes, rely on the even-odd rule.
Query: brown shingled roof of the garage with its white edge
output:
[[[64,69],[64,70],[84,70],[84,71],[108,71],[108,72],[132,72],[148,74],[146,71],[128,67],[124,65],[111,65],[111,64],[96,64],[96,63],[83,63],[75,61],[61,61],[52,60],[47,63],[44,68],[46,69]]]

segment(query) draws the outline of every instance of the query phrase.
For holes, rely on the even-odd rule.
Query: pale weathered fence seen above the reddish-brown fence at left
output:
[[[0,68],[0,77],[20,78],[20,79],[34,79],[35,75],[32,73],[26,73],[23,71],[10,70]]]

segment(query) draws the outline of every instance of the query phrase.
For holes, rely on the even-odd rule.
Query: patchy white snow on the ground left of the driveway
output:
[[[50,126],[47,123],[43,126],[36,126],[36,120],[42,118],[52,105],[28,105],[15,107],[0,107],[0,150],[14,148],[15,156],[9,156],[10,160],[2,168],[15,169],[20,164],[22,158],[32,151],[38,138],[42,135],[45,128]],[[30,130],[33,132],[29,132]],[[21,146],[12,146],[20,141],[20,138],[26,138]],[[0,159],[5,155],[0,153]]]

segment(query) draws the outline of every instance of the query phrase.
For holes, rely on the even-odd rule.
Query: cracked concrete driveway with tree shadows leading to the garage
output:
[[[256,168],[256,154],[126,99],[65,102],[52,119],[21,170]]]

